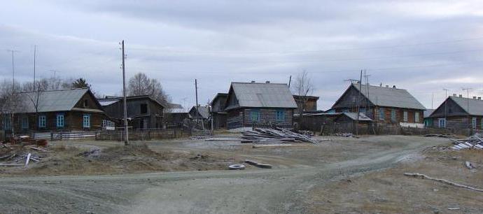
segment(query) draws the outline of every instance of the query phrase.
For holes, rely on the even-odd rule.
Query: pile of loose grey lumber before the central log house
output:
[[[241,143],[318,143],[310,136],[284,129],[261,129],[241,131]]]

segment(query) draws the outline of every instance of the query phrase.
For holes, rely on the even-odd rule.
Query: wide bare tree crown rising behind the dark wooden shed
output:
[[[161,83],[156,79],[148,78],[145,73],[137,73],[130,78],[127,94],[129,96],[149,95],[164,105],[171,101],[169,95],[162,89]]]

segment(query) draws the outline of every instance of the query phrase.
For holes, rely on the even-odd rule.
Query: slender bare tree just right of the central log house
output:
[[[297,74],[295,83],[293,83],[293,93],[300,97],[300,104],[297,104],[299,112],[299,120],[302,121],[302,113],[307,107],[309,95],[314,92],[314,83],[312,83],[309,73],[305,70]]]

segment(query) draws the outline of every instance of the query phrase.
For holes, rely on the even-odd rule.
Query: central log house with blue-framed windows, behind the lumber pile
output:
[[[288,85],[279,83],[232,83],[225,105],[228,129],[254,124],[293,126],[297,108]]]

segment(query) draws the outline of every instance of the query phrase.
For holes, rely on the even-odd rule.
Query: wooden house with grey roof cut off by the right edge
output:
[[[428,116],[430,127],[453,129],[483,129],[483,100],[449,96]]]

